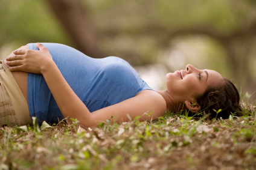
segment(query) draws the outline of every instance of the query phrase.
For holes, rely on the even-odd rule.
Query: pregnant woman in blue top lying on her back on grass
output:
[[[6,99],[1,99],[1,125],[31,124],[34,116],[40,123],[52,124],[77,118],[82,126],[93,127],[105,120],[127,121],[127,115],[155,120],[166,111],[181,109],[209,113],[212,118],[240,113],[238,91],[228,79],[190,64],[166,75],[164,91],[152,90],[121,58],[94,59],[63,44],[22,46],[1,68],[6,92],[2,92]],[[216,115],[213,109],[222,112]]]

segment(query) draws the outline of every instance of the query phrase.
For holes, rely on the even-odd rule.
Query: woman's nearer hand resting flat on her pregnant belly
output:
[[[37,43],[39,50],[15,50],[14,55],[6,58],[10,71],[25,71],[28,73],[42,74],[53,61],[48,49],[43,44]]]

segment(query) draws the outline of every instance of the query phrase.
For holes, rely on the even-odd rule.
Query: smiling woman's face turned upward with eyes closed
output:
[[[220,73],[214,70],[199,70],[188,64],[185,70],[175,71],[166,75],[167,92],[173,102],[181,103],[201,96],[211,85],[217,87],[224,82]]]

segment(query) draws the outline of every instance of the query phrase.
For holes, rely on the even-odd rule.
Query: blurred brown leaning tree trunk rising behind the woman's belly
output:
[[[80,0],[46,0],[75,43],[75,48],[93,58],[102,58],[89,14]]]

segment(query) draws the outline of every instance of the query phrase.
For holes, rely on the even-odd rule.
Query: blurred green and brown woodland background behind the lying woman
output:
[[[256,1],[0,0],[0,58],[52,42],[130,62],[152,88],[187,64],[256,87]],[[256,94],[251,97],[251,102]]]

